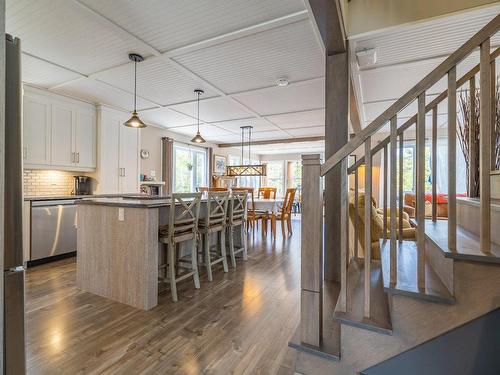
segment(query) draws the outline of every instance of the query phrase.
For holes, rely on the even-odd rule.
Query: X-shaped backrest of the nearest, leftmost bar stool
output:
[[[174,193],[171,199],[168,236],[197,230],[201,193]]]

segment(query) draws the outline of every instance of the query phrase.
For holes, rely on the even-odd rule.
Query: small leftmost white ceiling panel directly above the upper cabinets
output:
[[[22,79],[25,83],[48,88],[81,77],[70,70],[32,56],[22,54],[21,57]]]

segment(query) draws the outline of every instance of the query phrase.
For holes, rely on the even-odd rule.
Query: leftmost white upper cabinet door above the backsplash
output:
[[[50,164],[50,103],[24,96],[23,159],[26,166]]]

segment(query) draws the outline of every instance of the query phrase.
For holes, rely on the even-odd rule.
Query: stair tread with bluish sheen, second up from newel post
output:
[[[454,303],[455,298],[434,271],[429,261],[425,261],[425,288],[417,285],[417,243],[414,241],[397,242],[397,281],[390,285],[390,241],[380,241],[380,255],[384,289],[390,294],[406,295],[432,302]]]

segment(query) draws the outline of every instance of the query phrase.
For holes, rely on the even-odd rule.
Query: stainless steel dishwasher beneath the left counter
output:
[[[76,251],[74,199],[31,203],[31,259]]]

